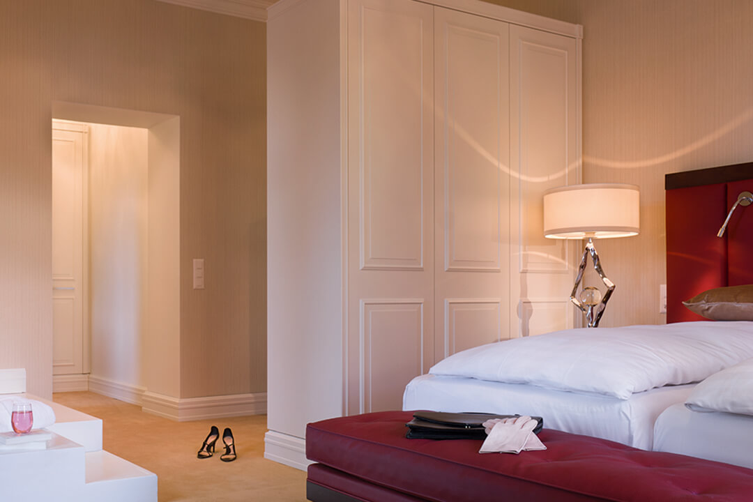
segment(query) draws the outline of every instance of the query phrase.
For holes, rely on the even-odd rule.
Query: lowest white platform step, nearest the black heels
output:
[[[157,500],[157,475],[109,452],[86,454],[84,500]]]

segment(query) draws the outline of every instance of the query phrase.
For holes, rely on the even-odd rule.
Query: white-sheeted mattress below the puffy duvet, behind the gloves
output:
[[[655,388],[628,400],[453,376],[423,375],[403,394],[403,409],[538,415],[544,427],[651,449],[654,421],[684,403],[694,384]]]

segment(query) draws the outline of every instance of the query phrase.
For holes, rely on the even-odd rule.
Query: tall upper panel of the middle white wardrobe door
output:
[[[444,268],[499,272],[509,231],[508,25],[445,9],[435,16]]]

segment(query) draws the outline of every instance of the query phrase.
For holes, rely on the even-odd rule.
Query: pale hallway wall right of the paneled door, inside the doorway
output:
[[[139,127],[89,126],[91,374],[136,386],[148,333],[147,137]]]

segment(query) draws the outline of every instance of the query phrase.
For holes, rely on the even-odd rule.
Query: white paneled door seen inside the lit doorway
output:
[[[53,375],[84,373],[87,126],[53,121]]]

